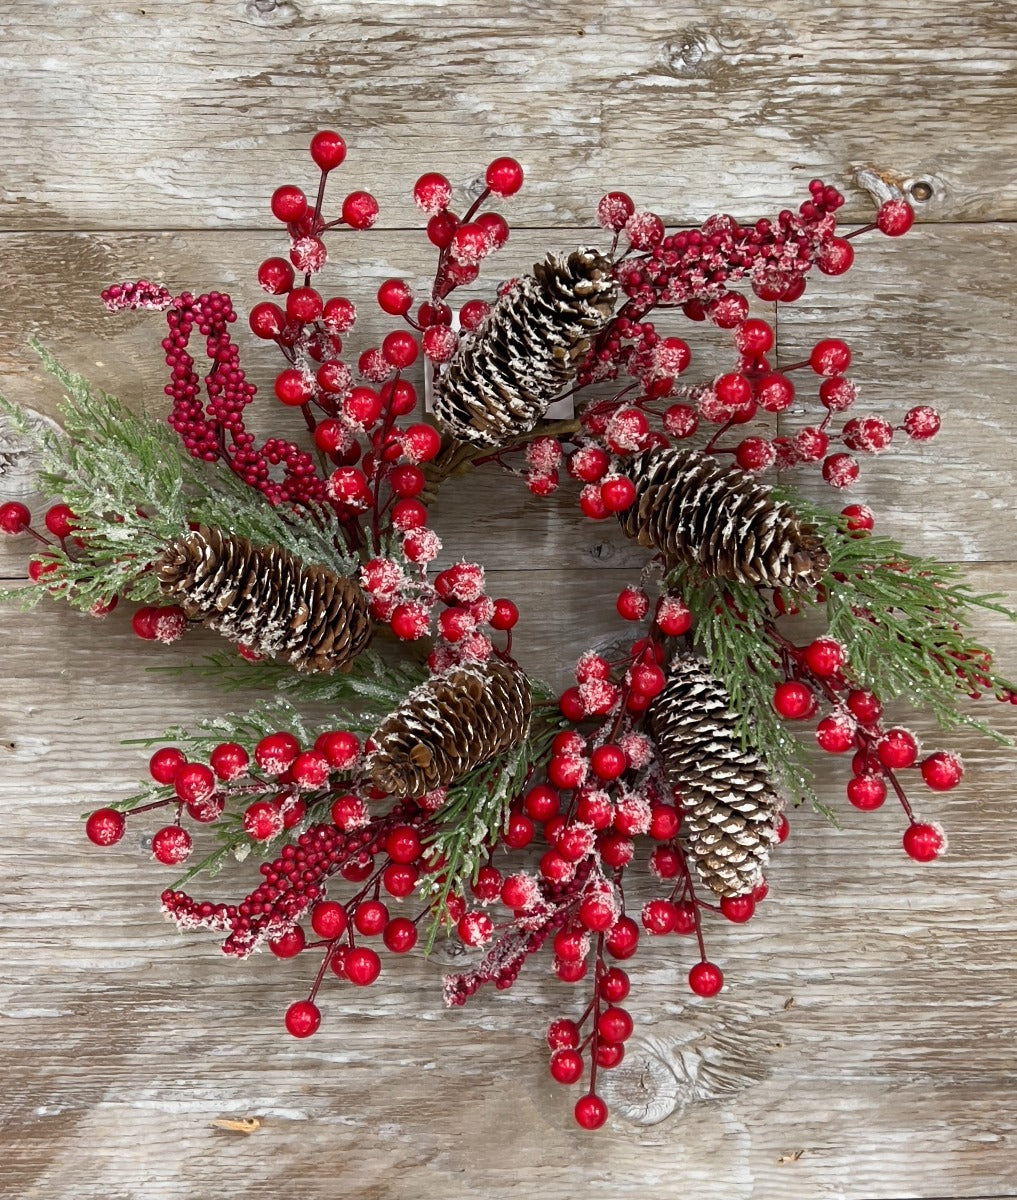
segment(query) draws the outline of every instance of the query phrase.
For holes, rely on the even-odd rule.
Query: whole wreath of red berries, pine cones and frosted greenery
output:
[[[909,793],[956,787],[962,764],[923,751],[884,704],[907,700],[998,737],[969,697],[1017,701],[969,631],[976,608],[1013,616],[999,598],[877,535],[867,506],[837,510],[783,482],[814,470],[846,488],[866,456],[939,428],[925,404],[896,424],[854,415],[840,338],[777,365],[775,323],[750,316],[747,299],[793,304],[810,272],[850,268],[859,234],[896,238],[913,212],[890,199],[843,233],[843,197],[814,180],[796,211],[668,230],[615,191],[597,205],[601,248],[550,252],[455,308],[508,238],[488,204],[514,194],[523,172],[497,158],[462,216],[449,180],[429,173],[413,196],[434,277],[384,282],[377,304],[395,328],[354,358],[354,302],[314,281],[330,232],[368,229],[378,205],[353,191],[327,217],[343,139],[317,133],[311,157],[313,199],[294,185],[272,194],[289,251],[261,263],[270,299],[248,317],[284,360],[275,398],[306,438],[248,430],[257,389],[228,295],[109,287],[112,312],[166,316],[168,422],[38,348],[66,402],[59,431],[5,403],[53,499],[38,527],[25,505],[0,506],[5,533],[43,544],[7,599],[50,596],[96,617],[130,601],[134,631],[161,643],[205,626],[235,649],[199,667],[271,692],[162,734],[150,779],[88,814],[85,833],[109,847],[128,823],[155,824],[154,860],[182,869],[162,892],[180,929],[212,930],[236,958],[263,946],[306,956],[290,1034],[318,1030],[333,984],[373,984],[384,952],[457,938],[471,958],[444,988],[459,1006],[486,984],[511,988],[546,949],[583,996],[547,1031],[550,1074],[582,1084],[576,1120],[594,1129],[608,1111],[601,1075],[633,1031],[621,964],[644,936],[680,935],[692,992],[721,991],[706,926],[747,922],[766,896],[786,804],[819,804],[811,754],[848,756],[848,802],[872,810],[891,797],[904,851],[928,862],[945,835]],[[692,382],[688,342],[658,329],[668,316],[727,331],[730,370]],[[742,430],[792,406],[812,415],[793,436]],[[470,469],[507,470],[535,497],[564,482],[586,518],[646,548],[616,599],[622,632],[591,646],[560,695],[518,666],[518,608],[488,593],[483,564],[443,559],[429,510]],[[260,875],[246,894],[195,894],[245,859]],[[639,870],[654,896],[633,911]]]

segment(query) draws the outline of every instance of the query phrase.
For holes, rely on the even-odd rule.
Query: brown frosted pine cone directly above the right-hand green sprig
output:
[[[655,448],[632,461],[636,499],[621,528],[660,551],[668,566],[771,588],[816,587],[830,554],[794,509],[770,490],[699,450]]]

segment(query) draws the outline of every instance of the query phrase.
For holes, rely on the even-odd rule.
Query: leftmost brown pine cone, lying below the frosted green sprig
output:
[[[191,620],[297,671],[341,670],[371,638],[360,586],[278,546],[199,526],[171,541],[155,568]]]

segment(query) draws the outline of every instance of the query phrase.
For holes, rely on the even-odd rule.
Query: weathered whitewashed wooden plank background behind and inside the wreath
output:
[[[781,356],[843,335],[873,409],[943,409],[937,442],[867,463],[855,496],[1017,604],[1015,28],[993,0],[16,0],[0,16],[0,385],[53,412],[36,335],[157,410],[160,320],[108,318],[100,288],[145,275],[247,308],[257,263],[282,248],[266,198],[309,182],[319,127],[349,142],[342,184],[381,203],[374,230],[332,246],[331,278],[363,300],[426,274],[409,202],[425,169],[464,191],[498,154],[524,162],[487,280],[595,238],[609,187],[681,223],[796,204],[820,175],[861,222],[892,185],[919,228],[865,239],[847,277],[782,311]],[[2,498],[23,467],[6,461]],[[639,563],[573,511],[489,478],[440,504],[450,552],[481,554],[523,604],[524,665],[558,680],[616,628],[610,598]],[[0,556],[17,577],[23,545]],[[1012,628],[981,628],[1017,673]],[[843,768],[824,767],[843,829],[795,815],[757,918],[709,929],[721,997],[687,995],[680,944],[640,950],[637,1037],[589,1136],[547,1078],[543,1030],[576,998],[544,968],[449,1013],[445,952],[386,964],[366,992],[326,992],[323,1030],[295,1043],[281,1016],[302,962],[237,966],[175,934],[140,839],[84,842],[79,814],[144,770],[121,739],[223,706],[145,672],[211,641],[156,659],[122,619],[55,606],[0,610],[0,1195],[1017,1195],[1011,750],[916,722],[968,766],[957,792],[920,798],[951,836],[927,868],[899,852],[889,805],[846,811]],[[1017,710],[997,715],[1017,733]],[[212,1124],[245,1117],[257,1132]]]

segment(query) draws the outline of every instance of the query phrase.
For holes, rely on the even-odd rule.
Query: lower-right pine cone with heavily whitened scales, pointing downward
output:
[[[777,841],[781,802],[758,755],[741,748],[727,690],[700,659],[679,658],[648,716],[699,878],[717,895],[751,892]]]

